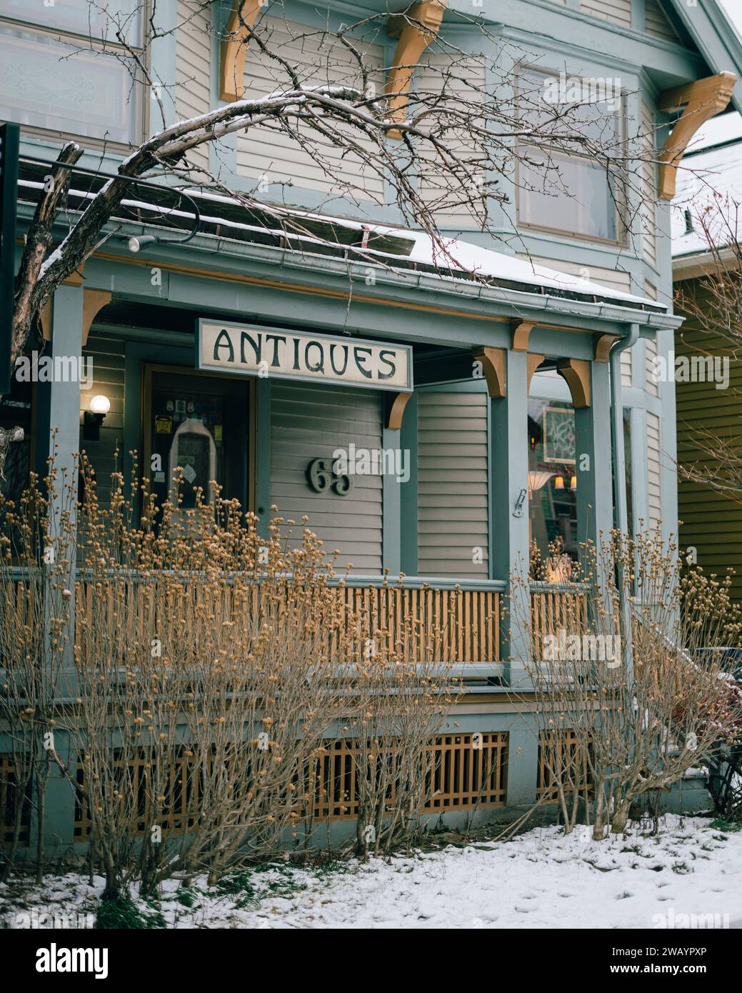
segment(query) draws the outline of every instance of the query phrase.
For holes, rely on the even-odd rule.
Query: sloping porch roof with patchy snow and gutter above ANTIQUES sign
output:
[[[38,200],[45,168],[35,165],[22,170],[19,181],[22,202],[33,204]],[[103,178],[92,180],[86,190],[74,184],[69,193],[69,213],[81,213],[102,182]],[[152,188],[142,188],[142,193],[146,199],[135,199],[135,192],[134,198],[123,201],[106,229],[123,238],[142,230],[159,233],[161,229],[164,236],[157,247],[169,251],[167,231],[191,231],[194,214],[174,209],[173,201],[178,203],[177,190],[163,185],[162,194]],[[230,254],[235,258],[245,253],[252,257],[257,252],[265,261],[272,259],[283,267],[305,271],[316,267],[321,260],[323,272],[330,275],[340,265],[346,279],[349,267],[365,271],[361,267],[375,264],[382,270],[384,282],[395,278],[405,281],[405,277],[414,275],[414,289],[418,292],[439,291],[457,296],[463,292],[464,297],[474,295],[482,304],[492,296],[493,303],[498,305],[518,304],[529,310],[574,313],[590,319],[636,322],[654,328],[680,323],[659,301],[601,286],[462,239],[436,241],[430,235],[403,227],[252,201],[246,204],[236,198],[192,189],[187,193],[199,203],[201,226],[199,234],[181,252],[214,253],[216,243],[222,259]],[[21,211],[20,215],[24,213],[28,212]],[[170,240],[170,244],[173,249],[179,248],[176,241]]]

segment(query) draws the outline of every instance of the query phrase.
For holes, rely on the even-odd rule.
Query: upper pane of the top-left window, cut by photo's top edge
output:
[[[129,45],[142,44],[142,4],[139,0],[0,0],[0,17],[13,18],[43,28],[57,28],[74,35],[116,41],[116,28],[122,29]]]

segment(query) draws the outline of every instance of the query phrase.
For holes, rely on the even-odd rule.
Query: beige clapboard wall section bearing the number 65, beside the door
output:
[[[381,398],[371,390],[276,381],[271,386],[270,493],[282,517],[309,526],[339,565],[355,572],[381,570],[381,477],[356,476],[347,497],[318,494],[307,483],[313,459],[330,459],[337,448],[381,448]]]

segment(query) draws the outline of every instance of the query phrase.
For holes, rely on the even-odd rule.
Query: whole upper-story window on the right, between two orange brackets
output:
[[[575,135],[573,143],[563,142],[558,148],[519,141],[519,225],[623,243],[625,193],[619,161],[625,128],[620,80],[527,70],[519,73],[519,96],[525,124],[537,129],[548,121],[553,132],[558,113],[563,115],[564,130]]]

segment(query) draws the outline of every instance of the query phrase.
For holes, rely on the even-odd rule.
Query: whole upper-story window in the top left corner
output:
[[[108,8],[110,8],[108,10]],[[0,0],[0,119],[34,131],[139,144],[144,24],[138,0]]]

